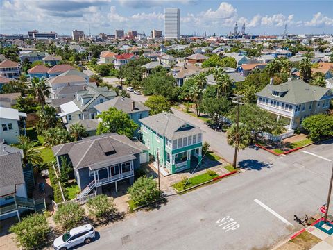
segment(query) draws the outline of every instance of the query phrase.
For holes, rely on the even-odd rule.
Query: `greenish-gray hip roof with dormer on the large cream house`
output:
[[[280,97],[274,97],[272,91],[284,92]],[[266,85],[266,87],[258,92],[258,97],[267,97],[276,101],[285,101],[295,105],[306,103],[309,101],[320,100],[327,92],[333,96],[330,89],[309,85],[301,80],[287,81],[280,85]]]

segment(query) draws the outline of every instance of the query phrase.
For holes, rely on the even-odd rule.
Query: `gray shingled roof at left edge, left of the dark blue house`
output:
[[[0,144],[0,197],[16,192],[16,185],[24,183],[22,152],[20,149]],[[6,149],[4,149],[6,147]]]

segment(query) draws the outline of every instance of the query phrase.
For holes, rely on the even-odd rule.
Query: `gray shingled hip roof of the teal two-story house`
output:
[[[201,131],[201,129],[197,126],[189,124],[185,120],[167,112],[145,117],[143,119],[139,119],[139,121],[170,140],[203,133],[203,131]],[[185,124],[187,124],[187,127],[181,128],[181,126]]]

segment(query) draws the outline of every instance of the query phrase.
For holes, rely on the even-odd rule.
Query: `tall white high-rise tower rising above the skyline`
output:
[[[164,38],[167,40],[180,38],[180,9],[164,9]]]

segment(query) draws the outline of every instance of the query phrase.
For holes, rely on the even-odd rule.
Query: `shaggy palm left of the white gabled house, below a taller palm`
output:
[[[40,108],[37,110],[37,115],[40,119],[38,119],[36,130],[40,135],[49,128],[55,128],[61,124],[60,119],[57,117],[56,109],[51,106],[45,106],[44,112]]]

